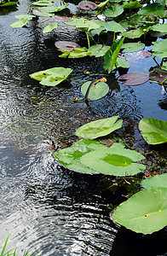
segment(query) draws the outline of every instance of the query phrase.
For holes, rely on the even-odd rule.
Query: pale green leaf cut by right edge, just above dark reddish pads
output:
[[[157,56],[159,59],[161,58],[167,58],[167,39],[153,42],[153,55]]]

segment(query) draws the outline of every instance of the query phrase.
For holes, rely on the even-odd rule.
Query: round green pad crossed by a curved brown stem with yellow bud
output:
[[[81,86],[81,92],[82,92],[83,96],[86,95],[86,92],[89,88],[90,83],[91,83],[91,81],[88,81]],[[100,82],[95,85],[92,85],[89,90],[89,100],[96,101],[96,100],[101,99],[102,97],[107,95],[108,90],[109,90],[109,87],[104,82]]]

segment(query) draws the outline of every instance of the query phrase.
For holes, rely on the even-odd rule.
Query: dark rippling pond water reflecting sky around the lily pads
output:
[[[58,57],[56,40],[84,44],[83,34],[75,30],[59,26],[56,34],[44,35],[47,23],[39,23],[43,18],[23,28],[9,27],[14,15],[29,8],[28,1],[20,1],[17,8],[0,9],[0,244],[10,234],[8,247],[17,247],[19,255],[25,247],[44,256],[164,255],[164,240],[157,248],[158,238],[143,238],[112,223],[106,207],[111,199],[101,194],[99,177],[57,166],[52,153],[76,141],[74,131],[93,119],[119,114],[135,121],[167,121],[166,93],[150,81],[128,87],[111,76],[110,92],[103,99],[89,107],[73,102],[88,80],[84,71],[104,73],[102,62]],[[67,13],[76,15],[78,9],[70,3]],[[130,72],[148,73],[155,66],[152,57],[127,58]],[[51,67],[72,67],[72,82],[50,88],[30,79],[30,73]],[[141,243],[140,250],[127,237],[134,245]]]

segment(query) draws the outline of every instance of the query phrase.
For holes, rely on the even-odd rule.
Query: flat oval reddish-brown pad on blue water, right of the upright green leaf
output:
[[[146,83],[149,76],[146,73],[125,73],[118,80],[126,80],[124,85],[139,85]]]

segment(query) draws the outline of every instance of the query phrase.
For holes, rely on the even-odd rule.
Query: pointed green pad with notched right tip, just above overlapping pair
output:
[[[118,122],[116,122],[117,119],[118,115],[107,119],[92,121],[79,127],[75,132],[75,135],[86,139],[95,139],[96,137],[106,136],[122,126],[123,120],[118,120]]]

